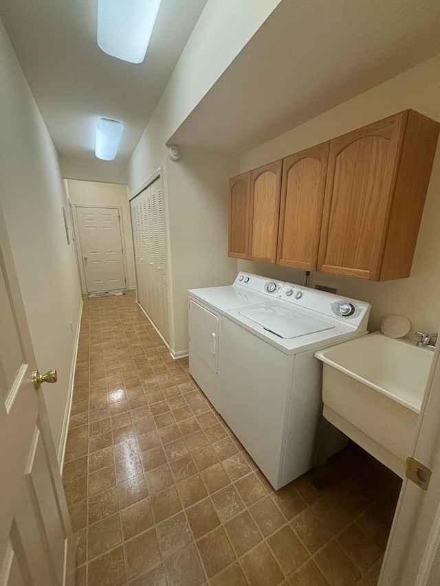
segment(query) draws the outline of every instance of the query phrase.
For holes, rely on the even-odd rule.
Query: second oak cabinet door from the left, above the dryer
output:
[[[250,260],[276,261],[282,165],[275,161],[251,172]]]

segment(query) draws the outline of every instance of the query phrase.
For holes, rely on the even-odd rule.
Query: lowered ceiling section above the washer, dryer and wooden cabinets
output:
[[[439,1],[283,0],[169,144],[246,153],[437,54]]]

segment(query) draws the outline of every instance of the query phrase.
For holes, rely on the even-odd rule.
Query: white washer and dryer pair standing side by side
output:
[[[371,306],[243,272],[188,295],[190,374],[277,490],[314,466],[314,353],[366,334]],[[329,455],[344,441],[335,433]]]

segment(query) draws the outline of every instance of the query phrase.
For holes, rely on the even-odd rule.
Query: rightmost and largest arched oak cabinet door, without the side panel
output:
[[[330,142],[318,270],[376,280],[405,113]]]

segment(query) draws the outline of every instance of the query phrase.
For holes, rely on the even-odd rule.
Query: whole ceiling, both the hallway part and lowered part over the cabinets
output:
[[[124,124],[128,161],[206,1],[162,0],[133,65],[96,45],[98,0],[0,0],[61,157],[96,160],[102,116]],[[244,153],[436,54],[438,1],[282,0],[170,143]]]

